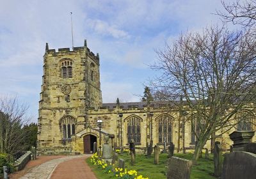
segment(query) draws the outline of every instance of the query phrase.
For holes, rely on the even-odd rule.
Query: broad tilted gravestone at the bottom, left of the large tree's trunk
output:
[[[179,157],[168,159],[167,179],[189,179],[192,161]]]

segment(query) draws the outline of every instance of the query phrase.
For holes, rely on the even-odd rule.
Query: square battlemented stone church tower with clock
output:
[[[88,107],[102,105],[99,54],[84,47],[49,49],[46,43],[44,75],[38,116],[39,151],[69,150],[67,139],[84,129]],[[65,139],[65,140],[63,140]]]

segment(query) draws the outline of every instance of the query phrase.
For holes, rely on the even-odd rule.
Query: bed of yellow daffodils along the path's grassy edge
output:
[[[127,152],[129,152],[129,150]],[[92,162],[93,165],[101,168],[104,171],[104,173],[112,173],[113,176],[115,176],[116,178],[148,179],[148,178],[143,178],[142,175],[138,175],[138,172],[136,170],[127,171],[127,169],[116,167],[115,164],[107,164],[104,160],[99,160],[97,153],[94,153],[92,155],[92,157],[90,158],[90,162]]]

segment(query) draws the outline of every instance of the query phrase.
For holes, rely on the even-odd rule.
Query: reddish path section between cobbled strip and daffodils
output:
[[[92,169],[86,164],[84,156],[62,162],[59,164],[51,175],[51,179],[97,179]]]

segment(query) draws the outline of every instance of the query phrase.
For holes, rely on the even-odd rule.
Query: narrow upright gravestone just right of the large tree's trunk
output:
[[[214,160],[214,175],[219,177],[221,176],[222,162],[223,162],[222,149],[219,141],[216,141],[214,145],[213,160]]]

